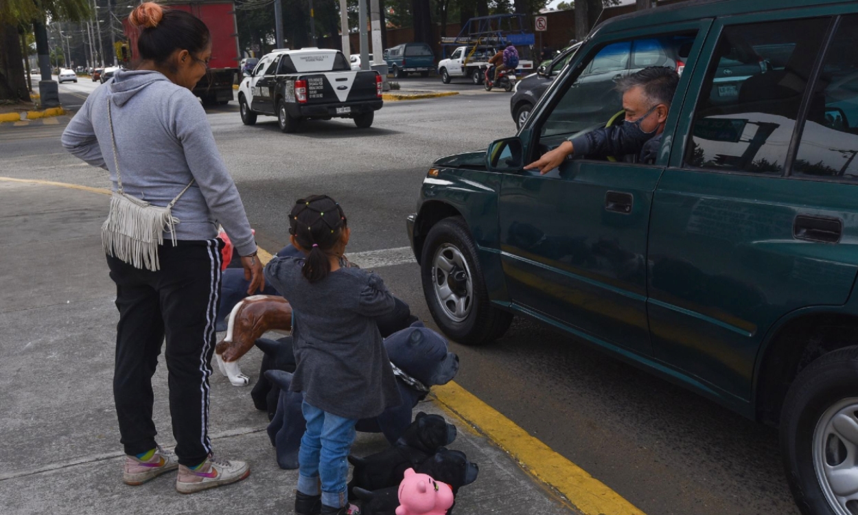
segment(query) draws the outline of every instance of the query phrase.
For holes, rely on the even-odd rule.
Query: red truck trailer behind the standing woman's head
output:
[[[180,9],[195,15],[208,27],[212,39],[212,58],[208,61],[208,74],[200,79],[194,94],[203,104],[226,104],[233,100],[233,83],[239,74],[239,30],[235,21],[235,5],[229,0],[193,0],[190,2],[159,2],[170,9]],[[131,61],[140,57],[137,52],[138,29],[126,19],[125,35],[131,49]]]

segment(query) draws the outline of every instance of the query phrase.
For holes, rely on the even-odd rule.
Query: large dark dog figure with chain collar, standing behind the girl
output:
[[[260,341],[257,341],[257,345]],[[277,464],[281,469],[287,470],[298,468],[298,448],[305,430],[304,416],[301,415],[302,397],[299,393],[289,391],[292,374],[277,369],[283,367],[288,370],[286,364],[291,359],[292,371],[294,370],[291,342],[289,338],[281,338],[280,342],[269,340],[260,345],[261,348],[268,349],[266,358],[263,359],[263,367],[276,368],[263,372],[262,377],[270,385],[257,384],[251,392],[257,409],[268,409],[270,414],[273,405],[271,391],[279,389],[275,414],[271,418],[268,433],[271,444],[277,449]],[[386,409],[376,418],[361,419],[355,428],[366,433],[384,433],[392,444],[411,423],[414,406],[426,397],[428,387],[444,385],[456,376],[459,358],[456,354],[447,352],[447,341],[443,336],[420,322],[385,338],[384,348],[390,362],[399,369],[396,383],[399,385],[402,404]],[[263,381],[260,380],[259,383]]]

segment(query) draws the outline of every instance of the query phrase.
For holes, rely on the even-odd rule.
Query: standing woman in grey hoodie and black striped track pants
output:
[[[89,95],[63,132],[63,146],[108,169],[120,195],[172,207],[173,231],[164,233],[163,245],[150,248],[146,267],[140,253],[127,258],[139,245],[128,239],[111,244],[110,238],[124,236],[102,233],[119,310],[113,397],[128,455],[123,480],[139,485],[178,468],[176,489],[190,494],[250,475],[245,462],[215,458],[208,439],[208,376],[221,288],[218,223],[242,256],[250,291],[264,279],[239,192],[190,92],[208,69],[208,28],[189,13],[156,3],[142,3],[129,20],[141,31],[142,63],[134,71],[118,70]],[[133,231],[141,225],[133,212],[125,209],[117,221],[112,206],[108,222]],[[175,453],[155,443],[152,421],[152,376],[165,336]]]

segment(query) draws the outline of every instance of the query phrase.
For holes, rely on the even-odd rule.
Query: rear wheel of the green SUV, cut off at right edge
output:
[[[805,515],[858,508],[858,346],[824,354],[799,373],[781,411],[789,487]]]

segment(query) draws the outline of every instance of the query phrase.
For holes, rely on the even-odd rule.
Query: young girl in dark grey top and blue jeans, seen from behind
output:
[[[359,512],[346,492],[354,425],[402,402],[374,320],[395,302],[380,277],[343,258],[351,231],[334,199],[299,200],[289,227],[305,256],[273,258],[265,277],[292,305],[292,391],[304,393],[295,513],[350,515]]]

